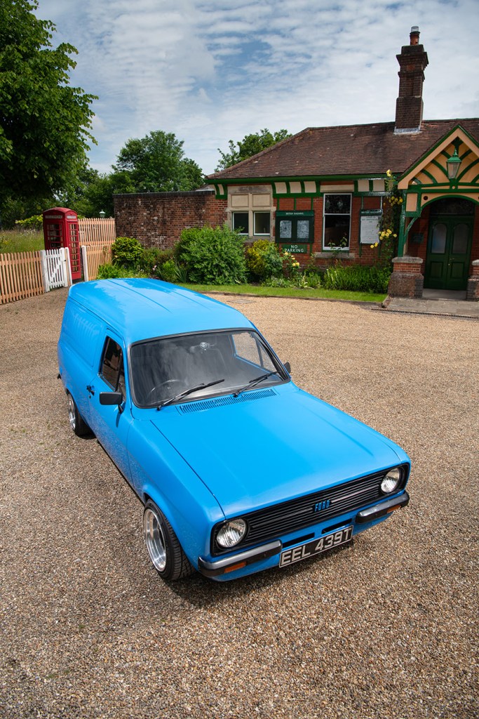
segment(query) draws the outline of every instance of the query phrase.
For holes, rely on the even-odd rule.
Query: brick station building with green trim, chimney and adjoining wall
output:
[[[227,221],[246,240],[271,239],[319,265],[332,253],[373,265],[392,175],[400,211],[390,293],[422,296],[424,285],[479,299],[479,119],[422,119],[428,58],[417,27],[396,57],[395,122],[304,129],[210,175],[213,191],[116,196],[117,233],[161,247],[184,226]]]

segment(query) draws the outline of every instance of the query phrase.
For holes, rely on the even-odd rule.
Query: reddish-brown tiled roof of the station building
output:
[[[394,134],[394,122],[307,127],[210,180],[404,173],[447,132],[461,125],[479,142],[479,118],[427,120],[421,132]]]

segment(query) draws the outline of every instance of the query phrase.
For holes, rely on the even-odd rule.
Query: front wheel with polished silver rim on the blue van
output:
[[[172,582],[194,572],[171,524],[151,500],[144,508],[143,528],[149,558],[163,580]]]

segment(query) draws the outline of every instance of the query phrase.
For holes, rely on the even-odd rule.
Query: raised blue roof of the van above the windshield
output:
[[[73,285],[69,296],[106,321],[126,344],[168,334],[254,326],[228,305],[160,280],[83,282]]]

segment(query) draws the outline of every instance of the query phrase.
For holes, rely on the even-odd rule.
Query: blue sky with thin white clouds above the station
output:
[[[218,147],[264,127],[392,121],[412,25],[424,119],[479,116],[478,0],[39,0],[36,14],[78,49],[71,84],[99,96],[101,172],[152,130],[212,173]]]

